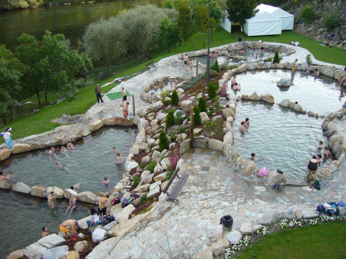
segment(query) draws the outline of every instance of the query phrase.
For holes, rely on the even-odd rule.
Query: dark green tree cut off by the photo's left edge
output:
[[[13,53],[6,49],[6,45],[0,44],[0,114],[2,123],[7,123],[7,114],[12,113],[16,95],[20,92],[20,79],[24,72],[24,66]]]

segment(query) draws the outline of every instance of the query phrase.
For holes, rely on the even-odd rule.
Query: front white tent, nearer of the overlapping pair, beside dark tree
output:
[[[256,14],[245,21],[244,31],[248,36],[281,34],[282,20],[268,12]]]

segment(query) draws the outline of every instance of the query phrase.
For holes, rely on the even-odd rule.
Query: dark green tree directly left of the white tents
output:
[[[257,6],[256,0],[227,0],[227,18],[234,23],[240,23],[244,32],[245,19],[249,19],[259,11],[255,9]]]

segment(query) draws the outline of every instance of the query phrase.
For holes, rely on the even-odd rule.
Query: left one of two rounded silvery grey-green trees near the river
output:
[[[90,23],[83,35],[84,48],[89,57],[100,62],[104,67],[102,78],[109,74],[111,65],[122,62],[128,47],[126,28],[119,19],[111,17]]]

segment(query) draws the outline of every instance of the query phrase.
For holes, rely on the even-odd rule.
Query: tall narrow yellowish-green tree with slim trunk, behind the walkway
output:
[[[179,37],[182,40],[190,39],[193,49],[196,50],[196,47],[191,38],[193,33],[192,11],[189,6],[188,0],[177,0],[176,10],[179,12],[176,18]]]

